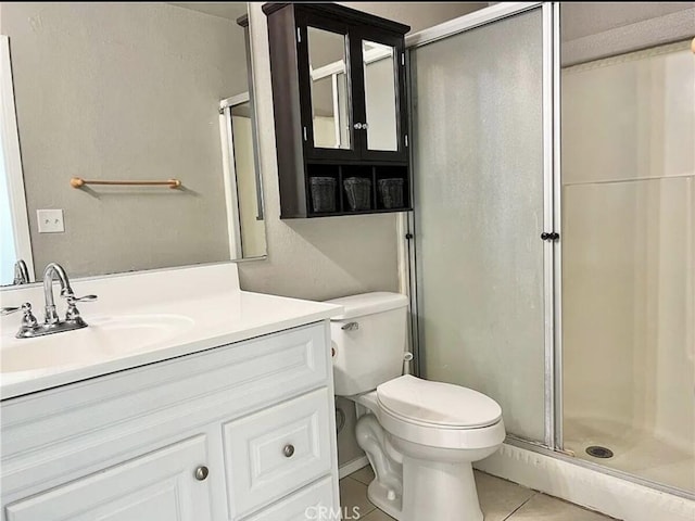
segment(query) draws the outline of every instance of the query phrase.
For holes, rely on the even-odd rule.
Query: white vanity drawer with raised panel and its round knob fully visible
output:
[[[331,403],[324,387],[223,425],[231,519],[330,472]]]

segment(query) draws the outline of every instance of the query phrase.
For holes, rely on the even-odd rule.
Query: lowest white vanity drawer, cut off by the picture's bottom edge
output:
[[[333,482],[325,478],[244,521],[327,521],[341,519]]]

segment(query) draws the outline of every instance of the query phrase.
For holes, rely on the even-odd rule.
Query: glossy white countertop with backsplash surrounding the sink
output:
[[[9,353],[5,350],[24,348],[28,353],[31,342],[47,341],[54,343],[51,348],[70,350],[77,341],[94,333],[85,328],[18,340],[13,335],[18,329],[21,314],[2,317],[2,399],[324,320],[343,310],[332,304],[241,291],[233,264],[80,280],[73,288],[77,294],[99,295],[98,302],[79,305],[84,319],[87,323],[91,320],[94,329],[114,317],[178,317],[177,320],[182,320],[173,336],[142,348],[126,348],[108,355],[91,356],[90,353],[90,358],[67,365],[5,372],[2,370],[3,353]],[[54,293],[63,315],[64,303],[59,302],[62,300],[58,297],[58,288]],[[2,306],[31,302],[37,318],[42,321],[42,287],[3,291],[1,297]],[[83,336],[76,336],[80,334]]]

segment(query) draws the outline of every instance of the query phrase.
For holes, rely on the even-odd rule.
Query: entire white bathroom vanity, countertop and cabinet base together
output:
[[[235,264],[73,287],[99,295],[88,328],[16,340],[2,317],[2,521],[339,511],[340,307],[240,291]],[[42,288],[2,292],[25,301],[40,315]]]

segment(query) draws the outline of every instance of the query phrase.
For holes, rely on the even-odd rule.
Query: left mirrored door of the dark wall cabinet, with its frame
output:
[[[307,158],[358,158],[349,27],[303,11],[298,12],[296,21],[304,154]]]

